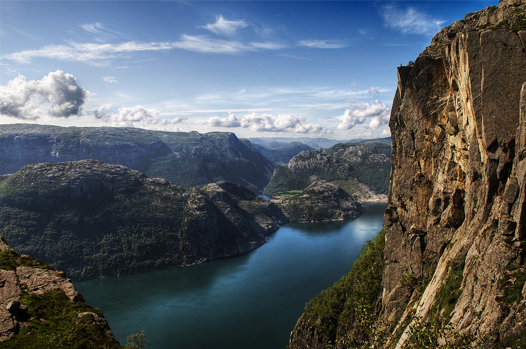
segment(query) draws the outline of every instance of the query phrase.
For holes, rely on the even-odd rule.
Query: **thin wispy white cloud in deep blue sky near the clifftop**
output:
[[[386,5],[381,11],[385,24],[388,27],[399,29],[402,33],[433,35],[440,31],[445,22],[430,18],[413,8],[403,11],[393,5]]]

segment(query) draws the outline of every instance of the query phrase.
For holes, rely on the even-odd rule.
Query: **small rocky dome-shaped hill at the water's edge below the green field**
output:
[[[302,193],[281,203],[291,222],[325,222],[356,218],[362,206],[336,184],[313,182]]]

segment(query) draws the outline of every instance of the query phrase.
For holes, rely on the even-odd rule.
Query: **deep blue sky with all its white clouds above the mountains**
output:
[[[0,124],[390,136],[397,67],[494,1],[0,2]]]

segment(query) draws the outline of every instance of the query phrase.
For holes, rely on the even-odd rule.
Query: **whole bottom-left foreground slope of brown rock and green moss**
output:
[[[100,310],[64,273],[19,255],[0,237],[0,346],[120,348]]]

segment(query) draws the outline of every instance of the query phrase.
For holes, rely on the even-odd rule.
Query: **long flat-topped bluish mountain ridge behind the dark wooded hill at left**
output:
[[[230,181],[267,185],[274,163],[230,132],[165,132],[122,127],[0,127],[0,174],[30,163],[94,159],[124,165],[183,187]]]

